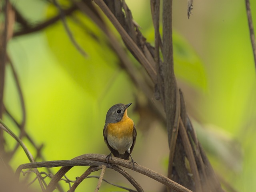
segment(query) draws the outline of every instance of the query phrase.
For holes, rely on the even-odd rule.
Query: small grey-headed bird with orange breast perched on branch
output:
[[[127,116],[127,108],[129,104],[115,104],[110,107],[106,115],[105,126],[103,129],[104,141],[107,144],[110,154],[106,157],[107,161],[112,158],[111,154],[115,157],[128,160],[136,141],[137,131],[136,126],[132,119]],[[132,159],[129,164],[133,164]]]

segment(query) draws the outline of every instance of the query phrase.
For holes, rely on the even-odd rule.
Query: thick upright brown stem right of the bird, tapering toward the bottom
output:
[[[180,93],[174,75],[172,46],[172,0],[163,1],[163,74],[164,109],[166,112],[166,128],[169,143],[168,178],[172,178],[173,158],[179,130]]]

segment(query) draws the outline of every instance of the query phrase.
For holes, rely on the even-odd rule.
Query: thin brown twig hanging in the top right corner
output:
[[[245,4],[246,4],[248,25],[249,25],[249,30],[250,30],[250,38],[251,38],[251,43],[252,43],[252,51],[253,51],[253,56],[254,56],[254,65],[255,65],[255,69],[256,69],[256,42],[255,42],[255,35],[254,35],[254,29],[253,29],[253,23],[252,23],[250,1],[245,0]]]

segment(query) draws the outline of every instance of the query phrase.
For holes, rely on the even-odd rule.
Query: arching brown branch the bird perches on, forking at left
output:
[[[100,165],[106,165],[110,166],[111,164],[117,165],[117,166],[123,166],[126,168],[129,168],[133,170],[133,165],[129,164],[127,160],[123,160],[120,158],[112,157],[112,160],[109,160],[109,164],[106,163],[106,155],[102,154],[84,154],[81,156],[78,156],[74,158],[74,160],[61,160],[61,161],[47,161],[47,162],[33,162],[28,164],[22,164],[20,165],[16,170],[16,177],[19,177],[20,171],[22,169],[27,168],[39,168],[39,167],[58,167],[63,166],[60,168],[60,170],[56,173],[56,175],[52,178],[50,184],[48,185],[48,190],[54,190],[54,186],[56,182],[68,172],[73,166],[100,166]],[[170,180],[166,176],[163,176],[157,172],[154,172],[153,170],[150,170],[146,167],[140,166],[138,164],[135,164],[135,171],[139,172],[141,174],[144,174],[170,188],[173,188],[174,190],[178,192],[191,192],[184,186],[181,186],[180,184]],[[50,190],[49,190],[50,191]]]

